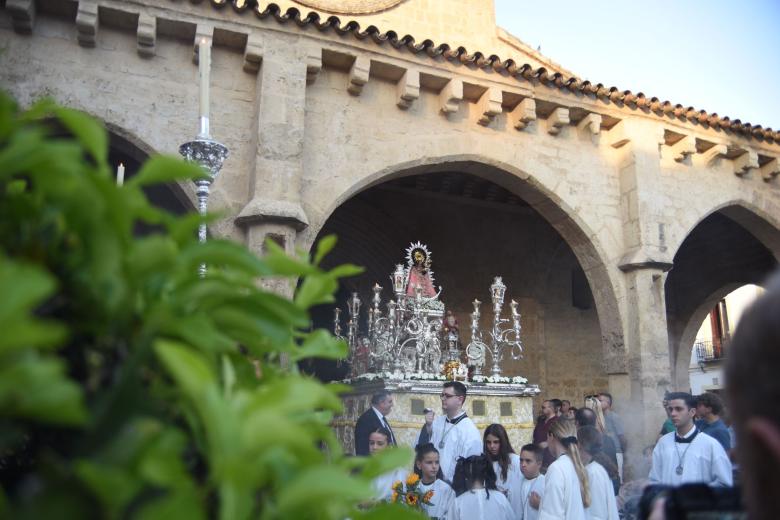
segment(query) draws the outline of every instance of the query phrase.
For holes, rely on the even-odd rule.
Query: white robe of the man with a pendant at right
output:
[[[689,435],[692,433],[689,432]],[[669,432],[655,445],[653,467],[650,470],[651,484],[679,486],[703,482],[710,486],[732,485],[731,461],[718,441],[701,432],[689,444],[675,442],[674,436],[675,432]],[[688,451],[685,451],[686,448]],[[676,472],[680,457],[682,475]]]

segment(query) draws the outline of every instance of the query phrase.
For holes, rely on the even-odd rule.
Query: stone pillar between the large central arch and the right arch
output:
[[[665,419],[661,399],[671,386],[664,282],[672,262],[659,188],[663,142],[663,128],[648,121],[623,120],[609,132],[620,177],[625,252],[618,267],[624,272],[628,355],[628,378],[614,381],[614,395],[626,427],[629,468],[655,441]]]

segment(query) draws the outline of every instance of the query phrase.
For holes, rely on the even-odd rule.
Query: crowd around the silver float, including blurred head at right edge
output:
[[[775,369],[780,366],[778,311],[780,283],[743,318],[747,320],[743,323],[763,332],[738,333],[734,339],[742,352],[777,361],[768,365]],[[587,396],[580,408],[569,401],[545,400],[533,442],[516,451],[500,424],[489,425],[480,435],[464,409],[466,386],[446,382],[440,396],[443,413],[435,417],[426,410],[416,442],[414,471],[422,489],[433,497],[422,509],[431,518],[630,518],[644,488],[698,483],[708,489],[731,489],[737,473],[735,439],[744,436],[749,445],[740,443],[744,452],[739,459],[750,518],[776,518],[780,488],[769,486],[780,483],[780,412],[776,405],[772,410],[756,408],[765,402],[760,399],[764,388],[780,393],[776,377],[771,368],[745,358],[733,362],[727,374],[739,385],[730,390],[731,402],[741,405],[733,413],[735,428],[724,421],[724,405],[717,394],[667,393],[663,399],[667,420],[655,445],[642,450],[647,467],[640,463],[633,468],[629,482],[623,479],[623,454],[629,445],[609,393]],[[374,396],[372,408],[358,421],[356,446],[366,444],[372,454],[395,444],[385,417],[391,408],[392,395]],[[359,436],[365,436],[366,443]],[[405,473],[398,470],[376,479],[376,498],[389,499],[392,482],[403,480]],[[653,503],[650,518],[673,518],[664,516],[664,500],[669,499]]]

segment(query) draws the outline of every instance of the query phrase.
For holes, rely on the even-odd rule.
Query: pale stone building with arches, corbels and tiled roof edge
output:
[[[780,132],[584,81],[492,0],[454,4],[5,0],[0,87],[101,119],[132,175],[195,136],[205,38],[230,149],[213,234],[262,254],[337,233],[329,261],[367,266],[342,297],[420,240],[461,323],[503,275],[526,346],[506,371],[574,403],[608,388],[649,442],[707,312],[777,265]]]

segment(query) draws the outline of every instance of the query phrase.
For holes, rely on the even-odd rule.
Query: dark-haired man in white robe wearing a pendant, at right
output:
[[[693,396],[684,392],[669,394],[667,411],[675,431],[661,437],[653,450],[650,482],[670,486],[693,482],[731,486],[731,461],[725,450],[693,423],[696,415]]]

